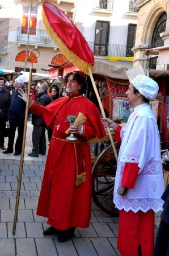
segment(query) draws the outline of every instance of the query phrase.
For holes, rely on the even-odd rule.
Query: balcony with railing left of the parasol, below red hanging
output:
[[[27,44],[28,30],[27,28],[18,27],[17,42],[20,44]],[[50,38],[46,30],[36,30],[31,28],[29,34],[29,44],[37,46],[50,46],[54,47],[55,44]]]

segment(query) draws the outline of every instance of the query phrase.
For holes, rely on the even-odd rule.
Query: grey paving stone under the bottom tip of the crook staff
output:
[[[26,229],[23,222],[16,222],[15,234],[12,234],[13,223],[7,223],[7,234],[9,238],[26,238]]]

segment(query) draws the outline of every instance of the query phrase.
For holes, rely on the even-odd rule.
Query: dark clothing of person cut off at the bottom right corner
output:
[[[153,256],[169,256],[169,184],[162,195],[162,199],[164,200],[164,209],[160,216]]]

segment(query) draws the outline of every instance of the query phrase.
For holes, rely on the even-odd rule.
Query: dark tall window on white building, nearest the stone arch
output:
[[[137,27],[136,24],[128,25],[128,40],[127,40],[127,44],[126,44],[126,57],[133,56],[132,48],[135,45],[136,27]]]

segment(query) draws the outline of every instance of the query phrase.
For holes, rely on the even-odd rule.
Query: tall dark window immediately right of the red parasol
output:
[[[108,51],[109,22],[96,21],[94,54],[106,56]]]

